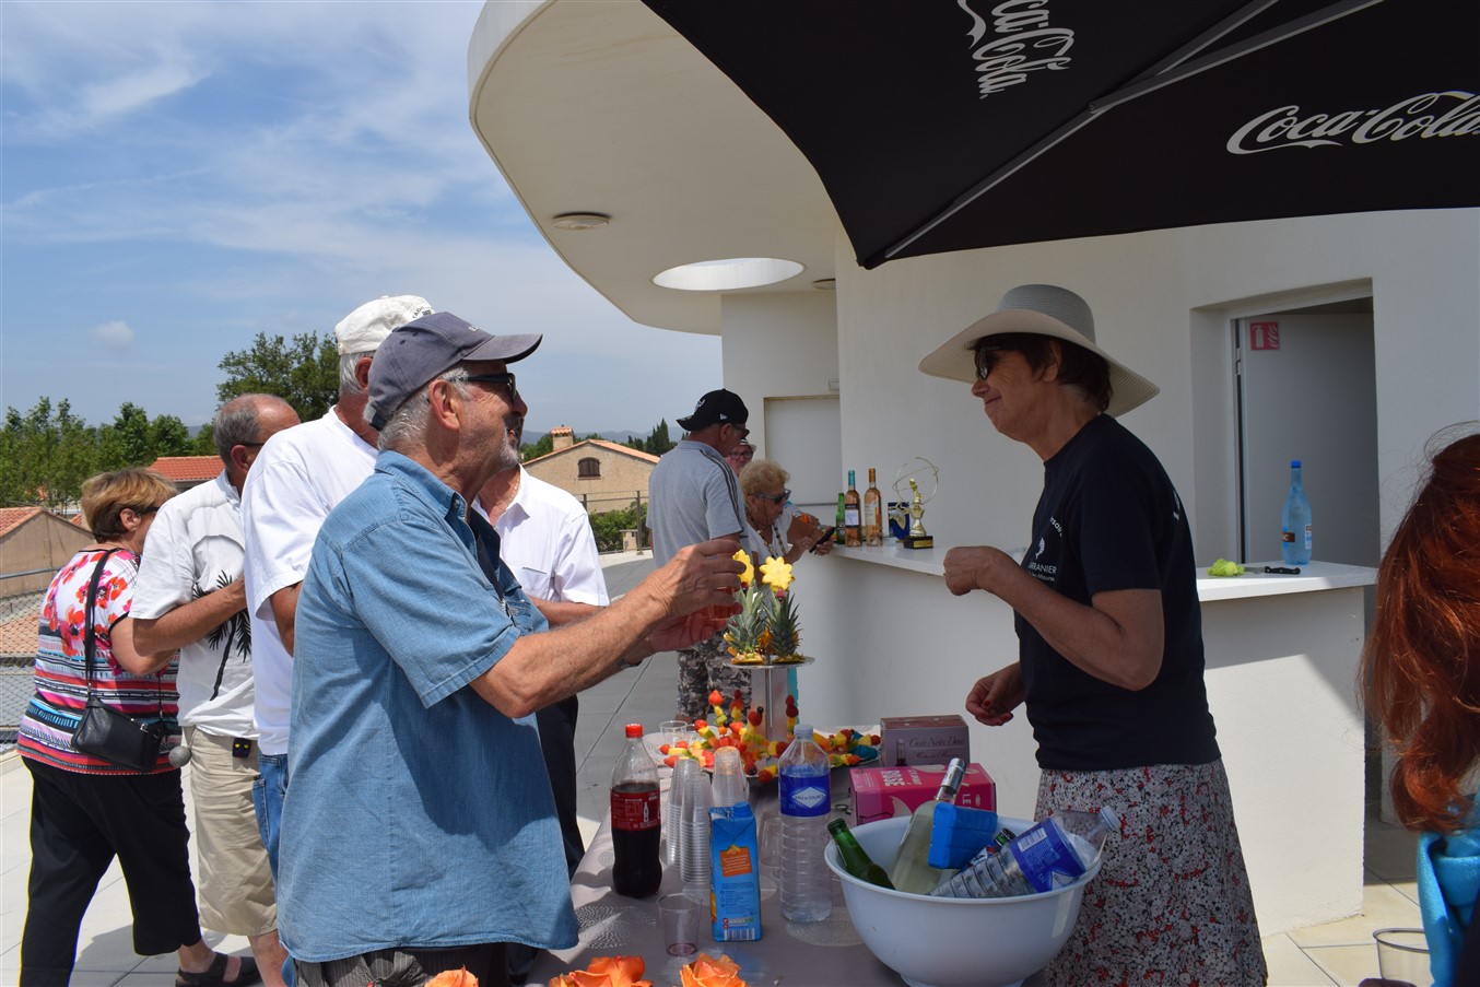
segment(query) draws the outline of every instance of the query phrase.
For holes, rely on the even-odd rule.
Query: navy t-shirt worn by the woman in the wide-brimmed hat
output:
[[[1085,425],[1043,465],[1023,568],[1085,605],[1101,592],[1154,589],[1166,629],[1160,673],[1131,691],[1077,669],[1017,617],[1040,768],[1107,771],[1218,759],[1187,513],[1151,450],[1109,414]]]

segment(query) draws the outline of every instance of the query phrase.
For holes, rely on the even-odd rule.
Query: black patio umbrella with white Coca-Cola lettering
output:
[[[858,263],[1480,206],[1476,0],[644,0],[817,169]]]

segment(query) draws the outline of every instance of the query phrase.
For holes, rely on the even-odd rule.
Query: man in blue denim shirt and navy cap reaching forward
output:
[[[685,549],[549,630],[468,500],[518,463],[508,364],[539,336],[450,312],[397,329],[370,371],[374,474],[327,518],[296,617],[280,928],[299,983],[505,984],[505,943],[576,944],[534,710],[707,636],[733,540]],[[490,894],[491,892],[491,894]]]

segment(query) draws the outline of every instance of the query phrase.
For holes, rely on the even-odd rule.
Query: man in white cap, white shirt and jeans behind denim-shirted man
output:
[[[398,294],[366,302],[334,326],[339,401],[317,422],[274,435],[262,447],[241,494],[260,769],[253,798],[274,875],[289,783],[287,727],[299,586],[324,518],[374,471],[377,432],[364,419],[374,351],[391,330],[431,312],[426,299]]]

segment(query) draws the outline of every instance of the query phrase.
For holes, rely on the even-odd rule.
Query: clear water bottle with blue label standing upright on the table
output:
[[[820,922],[832,914],[832,873],[823,861],[832,808],[827,755],[813,740],[811,724],[796,724],[795,735],[780,764],[781,914]]]

